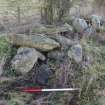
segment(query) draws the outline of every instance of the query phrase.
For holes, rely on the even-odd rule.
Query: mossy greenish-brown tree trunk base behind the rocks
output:
[[[47,24],[61,22],[62,18],[69,14],[70,7],[70,0],[44,0],[41,8],[42,20]]]

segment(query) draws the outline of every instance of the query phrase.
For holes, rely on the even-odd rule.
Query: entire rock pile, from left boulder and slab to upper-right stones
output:
[[[73,60],[77,64],[84,64],[83,61],[83,47],[79,40],[73,40],[65,36],[60,35],[60,32],[67,31],[77,31],[77,33],[88,33],[89,35],[95,32],[95,30],[101,28],[102,18],[92,15],[91,22],[83,18],[74,18],[73,27],[69,24],[65,24],[66,28],[59,28],[57,34],[45,35],[45,34],[10,34],[7,35],[6,39],[12,45],[19,46],[17,54],[13,57],[11,61],[11,66],[19,73],[26,74],[32,70],[34,65],[40,59],[41,61],[46,61],[47,59],[55,59],[63,61],[65,56]],[[45,53],[47,55],[45,55]],[[90,58],[87,57],[89,61]],[[87,62],[88,62],[87,61]],[[43,69],[44,68],[44,69]],[[38,80],[43,84],[51,75],[48,65],[42,65],[40,67]],[[42,70],[43,69],[43,70]],[[46,76],[45,76],[46,75]],[[43,77],[43,78],[41,78]],[[44,79],[44,80],[43,80]]]

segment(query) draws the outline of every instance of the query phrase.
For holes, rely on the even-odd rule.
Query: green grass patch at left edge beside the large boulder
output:
[[[12,48],[11,44],[9,44],[5,38],[5,35],[0,36],[0,59],[4,58],[5,62],[11,58],[12,55],[16,54],[17,49]],[[4,70],[4,73],[7,75],[15,76],[16,72],[12,68],[9,68],[10,62],[6,67],[7,69]]]

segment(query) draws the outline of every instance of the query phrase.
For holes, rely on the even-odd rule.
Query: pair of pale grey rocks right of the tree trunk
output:
[[[101,16],[91,15],[88,17],[88,20],[84,18],[74,18],[73,26],[77,32],[88,33],[90,35],[104,27],[103,21],[104,19]]]

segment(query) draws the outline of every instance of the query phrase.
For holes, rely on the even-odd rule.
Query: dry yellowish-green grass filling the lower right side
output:
[[[93,41],[86,43],[84,49],[85,54],[93,57],[94,63],[82,70],[79,77],[82,89],[79,105],[104,105],[102,102],[105,97],[102,93],[100,95],[98,93],[104,90],[105,85],[105,46]]]

